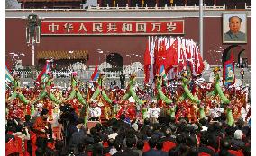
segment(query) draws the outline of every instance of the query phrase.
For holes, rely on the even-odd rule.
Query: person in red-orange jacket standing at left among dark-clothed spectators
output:
[[[47,123],[48,112],[48,109],[43,108],[41,116],[37,117],[33,124],[33,130],[36,134],[36,146],[37,148],[41,148],[43,152],[45,152],[47,147],[47,133],[49,131]]]

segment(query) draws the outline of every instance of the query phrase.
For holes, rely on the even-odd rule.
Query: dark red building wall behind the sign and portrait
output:
[[[47,19],[45,19],[47,20]],[[50,19],[53,20],[53,19]],[[64,20],[64,19],[62,19]],[[6,63],[11,64],[11,57],[8,53],[24,53],[23,65],[32,65],[32,47],[28,46],[25,40],[26,22],[21,19],[6,19]],[[245,56],[248,57],[251,65],[251,18],[247,22],[248,43],[241,44],[245,48]],[[185,18],[186,39],[199,41],[198,18]],[[214,50],[219,47],[228,47],[231,44],[222,43],[222,17],[207,17],[204,19],[204,59],[210,65],[221,65],[221,54]],[[130,57],[126,54],[136,53],[143,56],[146,47],[146,36],[43,36],[41,43],[37,44],[36,51],[41,50],[88,50],[89,60],[87,65],[95,65],[96,58],[105,56],[98,54],[98,48],[103,51],[118,52],[122,54],[124,65],[130,64]],[[143,62],[143,57],[132,57],[132,61]]]

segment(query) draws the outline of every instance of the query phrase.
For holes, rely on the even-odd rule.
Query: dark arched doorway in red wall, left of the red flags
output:
[[[106,56],[106,62],[112,65],[112,70],[123,70],[123,56],[118,53],[110,53]]]

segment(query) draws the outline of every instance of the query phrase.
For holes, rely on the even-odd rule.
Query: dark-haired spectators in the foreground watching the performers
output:
[[[176,122],[175,118],[158,117],[158,122],[145,118],[143,123],[134,119],[112,118],[101,125],[88,129],[83,118],[76,114],[67,125],[66,138],[52,139],[52,130],[46,130],[48,110],[43,108],[41,116],[34,123],[29,115],[26,121],[9,119],[6,126],[6,142],[14,135],[31,141],[27,151],[32,155],[169,155],[169,156],[249,156],[251,155],[251,126],[242,119],[229,126],[224,113],[220,117],[205,117],[196,123],[189,123],[187,117]],[[17,125],[14,121],[17,121]],[[22,128],[24,127],[24,129]],[[46,133],[46,131],[48,131]],[[12,134],[11,134],[12,133]],[[36,146],[32,146],[32,134],[36,134]],[[51,143],[53,147],[50,146]],[[50,144],[50,145],[49,145]]]

